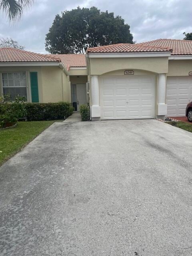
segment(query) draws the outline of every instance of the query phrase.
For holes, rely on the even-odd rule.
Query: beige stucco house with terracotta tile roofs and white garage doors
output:
[[[2,94],[29,102],[90,103],[92,120],[184,116],[192,100],[192,41],[158,39],[36,54],[0,48]]]

